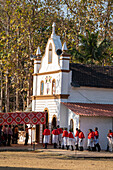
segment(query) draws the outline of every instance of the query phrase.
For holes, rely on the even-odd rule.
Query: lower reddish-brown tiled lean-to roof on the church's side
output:
[[[93,103],[64,103],[63,104],[77,115],[113,117],[113,104]]]

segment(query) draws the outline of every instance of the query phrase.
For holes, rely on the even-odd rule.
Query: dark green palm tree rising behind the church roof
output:
[[[111,42],[104,39],[98,41],[98,32],[90,33],[86,31],[87,35],[79,35],[80,45],[79,50],[74,49],[75,59],[84,64],[106,64],[110,58],[110,46]],[[75,51],[75,52],[74,52]]]

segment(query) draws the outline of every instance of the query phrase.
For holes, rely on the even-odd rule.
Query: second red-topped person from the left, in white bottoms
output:
[[[58,143],[58,130],[55,127],[54,130],[52,131],[52,143],[54,144],[54,148],[57,148],[57,143]]]

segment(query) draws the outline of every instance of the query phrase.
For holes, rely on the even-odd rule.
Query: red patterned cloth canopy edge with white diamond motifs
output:
[[[46,112],[0,113],[0,125],[45,124]]]

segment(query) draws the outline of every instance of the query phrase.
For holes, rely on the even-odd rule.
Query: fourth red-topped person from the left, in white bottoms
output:
[[[68,146],[68,131],[67,131],[67,128],[65,128],[65,130],[63,131],[62,138],[63,138],[62,149],[64,149],[64,147],[66,147],[67,150],[68,150],[69,146]]]

